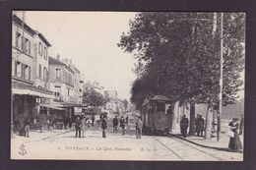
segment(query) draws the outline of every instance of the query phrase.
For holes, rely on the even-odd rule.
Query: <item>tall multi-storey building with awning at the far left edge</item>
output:
[[[12,23],[12,118],[15,126],[35,119],[38,98],[51,98],[47,86],[36,85],[36,31],[13,15]],[[37,111],[36,111],[37,110]]]

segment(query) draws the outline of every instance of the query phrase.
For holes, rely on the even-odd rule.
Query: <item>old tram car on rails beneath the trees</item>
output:
[[[163,95],[154,95],[146,98],[143,103],[143,134],[145,135],[167,135],[171,129],[171,115],[167,114],[171,106],[169,98]]]

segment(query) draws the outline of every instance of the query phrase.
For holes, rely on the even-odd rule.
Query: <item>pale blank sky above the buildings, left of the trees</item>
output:
[[[19,17],[22,13],[18,12]],[[85,74],[85,81],[96,81],[105,90],[117,90],[118,97],[130,99],[136,76],[136,60],[117,47],[122,32],[136,13],[128,12],[42,12],[27,11],[25,22],[51,43],[49,55],[72,59]]]

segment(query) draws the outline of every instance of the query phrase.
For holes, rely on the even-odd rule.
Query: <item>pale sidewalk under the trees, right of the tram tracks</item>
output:
[[[173,137],[181,139],[183,141],[191,142],[191,143],[194,143],[196,145],[203,146],[203,147],[214,148],[214,149],[224,150],[224,151],[228,150],[229,137],[224,132],[222,132],[220,134],[220,141],[219,142],[217,142],[217,137],[213,137],[210,140],[204,140],[203,137],[197,137],[197,136],[187,136],[186,138],[183,138],[180,135],[180,132],[179,132],[178,129],[173,130],[170,133],[170,136],[173,136]],[[240,140],[241,140],[242,145],[243,145],[243,136],[239,136],[239,137],[240,137]]]

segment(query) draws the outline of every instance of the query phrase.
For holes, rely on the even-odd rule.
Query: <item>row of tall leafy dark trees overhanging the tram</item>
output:
[[[143,100],[163,94],[173,102],[190,104],[190,122],[195,103],[208,105],[211,117],[219,103],[221,14],[139,13],[118,46],[133,53],[138,62],[131,101],[141,109]],[[243,82],[245,15],[224,13],[223,104],[235,103]],[[190,134],[194,134],[190,125]],[[208,127],[207,138],[210,136]]]

